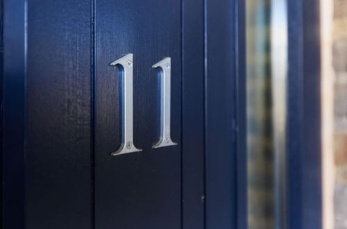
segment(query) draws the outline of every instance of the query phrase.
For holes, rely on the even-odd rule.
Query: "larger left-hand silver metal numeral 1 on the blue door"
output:
[[[121,101],[121,146],[112,153],[120,155],[142,151],[137,149],[133,141],[133,54],[130,53],[114,62],[111,66],[119,67],[122,77],[122,101]]]

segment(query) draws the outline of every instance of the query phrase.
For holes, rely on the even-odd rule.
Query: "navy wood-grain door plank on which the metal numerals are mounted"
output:
[[[95,225],[180,228],[180,1],[96,1]],[[112,156],[121,144],[120,76],[110,62],[134,54],[134,143],[139,153]],[[171,57],[171,137],[152,149],[160,126],[158,72]]]

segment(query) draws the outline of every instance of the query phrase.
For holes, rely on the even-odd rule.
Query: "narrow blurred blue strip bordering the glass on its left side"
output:
[[[235,107],[237,203],[236,226],[247,228],[247,149],[246,149],[246,1],[237,0],[235,7]]]

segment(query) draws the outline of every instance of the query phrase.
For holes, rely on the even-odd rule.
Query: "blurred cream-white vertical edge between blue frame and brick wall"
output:
[[[321,8],[321,139],[323,229],[334,228],[334,78],[332,35],[334,0],[320,0]]]

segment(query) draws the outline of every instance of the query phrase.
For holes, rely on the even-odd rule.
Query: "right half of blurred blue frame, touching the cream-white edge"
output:
[[[322,228],[321,31],[319,1],[303,1],[304,113],[303,228]]]

